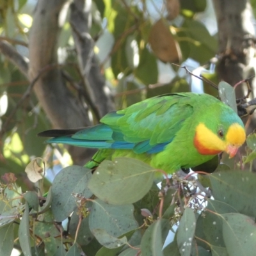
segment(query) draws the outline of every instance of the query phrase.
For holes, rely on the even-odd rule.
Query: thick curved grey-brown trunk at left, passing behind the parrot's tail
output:
[[[61,19],[67,13],[67,0],[40,0],[36,6],[29,36],[29,79],[32,81],[42,68],[58,63],[58,36]],[[66,12],[66,13],[65,13]],[[64,17],[65,18],[65,17]],[[35,93],[55,129],[90,125],[83,103],[69,91],[58,67],[49,68],[35,84]],[[83,164],[92,150],[69,147],[74,163]]]

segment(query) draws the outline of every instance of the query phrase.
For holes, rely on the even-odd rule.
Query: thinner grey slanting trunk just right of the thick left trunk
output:
[[[93,52],[94,42],[89,34],[90,5],[90,1],[74,0],[70,6],[70,24],[84,85],[95,104],[93,109],[98,109],[99,115],[103,116],[114,109],[114,104]]]

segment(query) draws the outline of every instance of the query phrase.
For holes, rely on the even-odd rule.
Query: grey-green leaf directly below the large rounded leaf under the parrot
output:
[[[104,229],[110,236],[118,238],[138,228],[138,224],[134,220],[133,211],[133,205],[109,205],[99,199],[93,200],[89,216],[90,230],[95,236],[94,230]],[[96,238],[98,239],[99,237]],[[106,246],[105,244],[102,245]]]

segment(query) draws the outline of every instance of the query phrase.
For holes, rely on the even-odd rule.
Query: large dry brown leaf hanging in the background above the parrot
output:
[[[152,26],[148,42],[159,60],[170,63],[181,61],[179,44],[173,38],[168,24],[163,19],[157,20]]]

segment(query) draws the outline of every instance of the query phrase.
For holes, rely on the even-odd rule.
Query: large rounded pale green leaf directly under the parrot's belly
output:
[[[108,204],[125,205],[143,198],[153,180],[154,170],[149,165],[137,159],[118,157],[114,161],[105,160],[99,165],[88,188]]]

